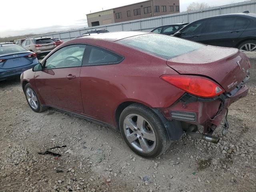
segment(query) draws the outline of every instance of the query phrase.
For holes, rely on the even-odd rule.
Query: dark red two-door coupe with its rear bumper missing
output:
[[[61,44],[25,71],[21,84],[35,112],[53,107],[104,122],[134,152],[153,158],[184,130],[218,142],[212,133],[228,106],[247,95],[249,67],[236,48],[112,32]]]

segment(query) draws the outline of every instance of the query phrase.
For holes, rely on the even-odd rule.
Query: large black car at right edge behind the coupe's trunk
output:
[[[256,14],[237,13],[200,19],[174,36],[208,45],[256,51]]]

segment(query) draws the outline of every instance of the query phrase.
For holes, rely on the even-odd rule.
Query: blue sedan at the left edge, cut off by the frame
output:
[[[36,64],[35,53],[16,44],[0,44],[0,81],[20,75]]]

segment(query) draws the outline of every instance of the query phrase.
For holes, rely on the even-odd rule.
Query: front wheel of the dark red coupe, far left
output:
[[[29,83],[26,84],[24,88],[24,93],[28,105],[34,112],[40,113],[48,109],[48,107],[41,105],[40,101],[38,100],[38,96],[36,95],[36,92],[33,90],[32,86]]]

